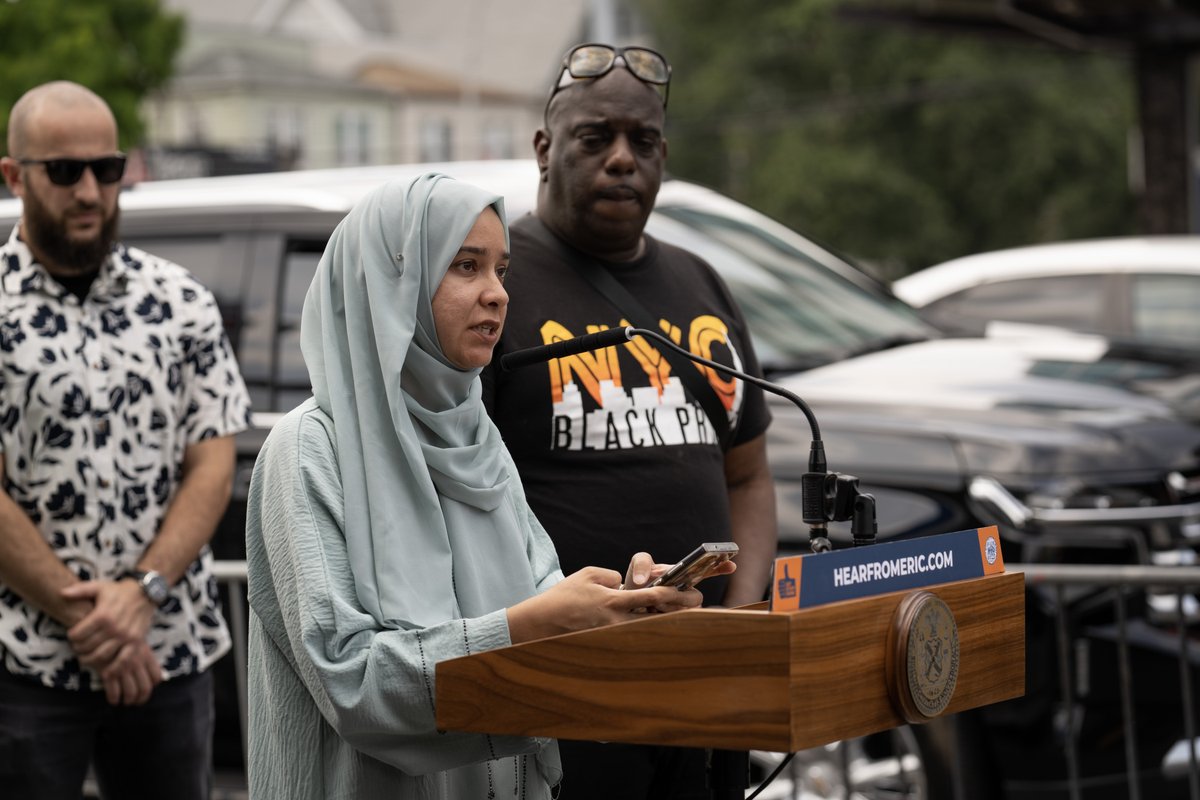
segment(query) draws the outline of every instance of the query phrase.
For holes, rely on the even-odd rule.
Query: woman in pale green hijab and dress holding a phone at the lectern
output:
[[[256,799],[548,798],[551,740],[436,730],[436,663],[700,604],[563,578],[480,402],[506,271],[500,198],[445,175],[383,186],[329,241],[301,317],[313,397],[250,487]]]

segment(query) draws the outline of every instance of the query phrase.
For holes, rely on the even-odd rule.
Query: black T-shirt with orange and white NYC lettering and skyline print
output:
[[[718,434],[650,342],[499,368],[505,353],[630,324],[571,263],[588,257],[536,217],[512,225],[511,252],[508,318],[484,371],[484,402],[563,572],[594,565],[624,573],[638,551],[672,563],[701,542],[731,540]],[[672,341],[761,374],[745,320],[702,259],[647,236],[642,258],[602,266]],[[762,391],[701,369],[728,414],[732,445],[761,435],[770,422]],[[702,583],[706,602],[720,602],[725,583]]]

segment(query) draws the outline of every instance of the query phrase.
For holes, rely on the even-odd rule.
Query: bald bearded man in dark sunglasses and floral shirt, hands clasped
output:
[[[209,796],[212,681],[229,649],[208,541],[250,403],[216,302],[116,242],[112,110],[28,91],[0,170],[0,786]],[[7,794],[6,794],[7,796]]]

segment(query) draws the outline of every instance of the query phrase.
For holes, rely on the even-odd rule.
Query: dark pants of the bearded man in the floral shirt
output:
[[[208,800],[212,676],[176,678],[145,705],[47,688],[0,669],[0,787],[6,798],[79,800],[89,763],[103,798]]]

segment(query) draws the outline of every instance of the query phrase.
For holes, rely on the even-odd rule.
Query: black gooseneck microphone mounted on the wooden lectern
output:
[[[572,339],[542,344],[539,347],[515,350],[500,356],[500,368],[505,372],[527,367],[534,363],[542,363],[551,359],[560,359],[569,355],[578,355],[588,350],[612,347],[622,342],[629,342],[635,336],[654,339],[659,344],[674,350],[679,355],[710,367],[725,375],[738,378],[748,384],[754,384],[763,391],[790,399],[809,421],[809,431],[812,434],[812,445],[809,449],[809,471],[800,476],[800,510],[804,524],[809,527],[809,547],[814,553],[826,553],[833,549],[829,542],[828,523],[833,521],[852,519],[854,525],[854,545],[874,543],[875,530],[875,498],[858,491],[858,479],[848,475],[830,473],[826,464],[824,443],[821,440],[821,427],[812,414],[812,409],[798,395],[782,386],[727,367],[710,359],[698,356],[686,350],[658,331],[644,327],[611,327],[599,333],[577,336]],[[858,501],[863,498],[863,501]],[[864,518],[859,518],[864,515]],[[866,519],[865,516],[870,518]],[[870,534],[870,539],[868,539]]]

